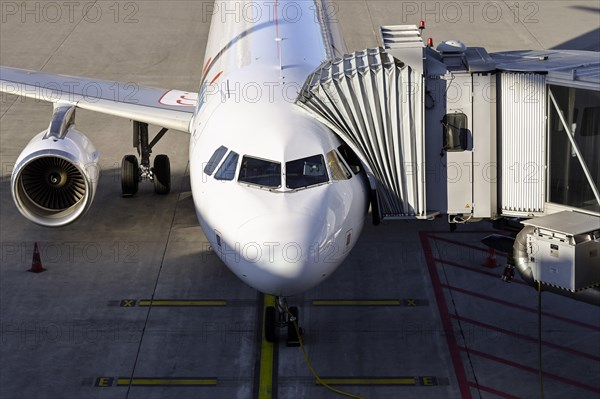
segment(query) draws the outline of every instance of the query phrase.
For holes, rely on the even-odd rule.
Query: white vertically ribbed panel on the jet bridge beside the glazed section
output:
[[[545,75],[500,74],[501,209],[544,212],[546,165]]]

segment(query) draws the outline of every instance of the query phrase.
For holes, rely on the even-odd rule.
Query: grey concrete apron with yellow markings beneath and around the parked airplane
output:
[[[0,64],[195,91],[211,2],[0,1]],[[220,4],[221,11],[226,6]],[[488,51],[599,51],[596,1],[339,1],[350,51],[384,24],[427,20],[425,37]],[[233,14],[217,14],[235,17]],[[333,398],[299,348],[264,342],[271,300],[218,260],[193,210],[189,136],[169,132],[172,193],[120,196],[131,122],[77,111],[101,152],[91,210],[60,229],[16,210],[10,172],[51,106],[0,103],[0,398]],[[154,127],[155,132],[158,131]],[[443,219],[367,224],[344,265],[300,307],[315,370],[369,399],[600,397],[600,309],[538,295],[482,266],[487,223],[450,233]],[[46,272],[27,273],[34,243]],[[541,373],[538,351],[541,348]]]

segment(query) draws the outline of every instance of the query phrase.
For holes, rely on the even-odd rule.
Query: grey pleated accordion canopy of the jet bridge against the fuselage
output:
[[[296,100],[361,159],[374,221],[435,215],[426,209],[422,85],[421,71],[370,48],[321,64]]]

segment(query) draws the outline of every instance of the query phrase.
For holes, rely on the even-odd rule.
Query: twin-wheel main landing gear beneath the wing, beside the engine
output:
[[[125,155],[121,162],[121,192],[123,197],[133,197],[140,181],[151,180],[156,194],[168,194],[171,191],[171,163],[166,155],[157,155],[154,166],[150,167],[152,148],[167,133],[166,128],[148,142],[148,124],[133,122],[133,146],[137,148],[140,161],[135,155]]]

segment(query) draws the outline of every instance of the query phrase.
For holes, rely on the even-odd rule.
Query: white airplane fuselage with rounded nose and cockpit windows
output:
[[[331,275],[368,209],[343,143],[294,105],[306,77],[342,49],[317,3],[216,2],[190,129],[200,225],[239,278],[273,295]]]

